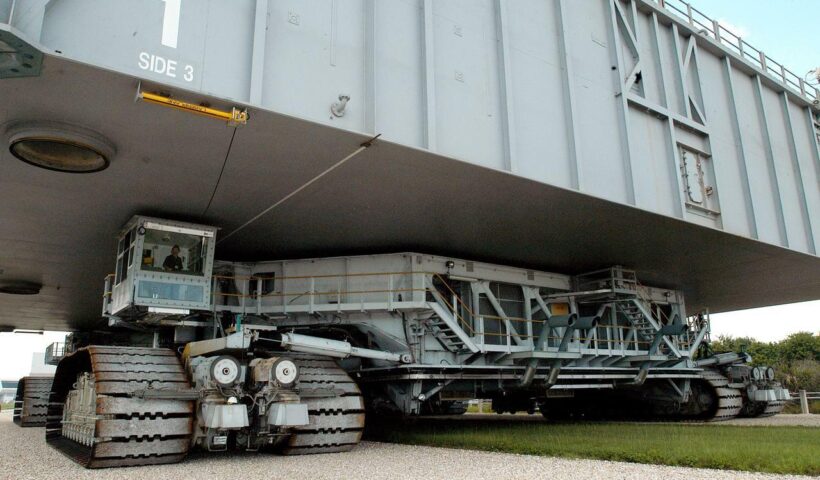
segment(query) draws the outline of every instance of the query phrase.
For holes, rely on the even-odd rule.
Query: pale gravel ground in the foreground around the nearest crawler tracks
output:
[[[721,480],[812,478],[639,465],[599,460],[568,460],[506,453],[413,447],[364,442],[350,453],[279,457],[275,455],[192,454],[175,465],[84,470],[43,439],[41,428],[20,428],[0,414],[0,478],[4,479],[416,479],[567,478]]]

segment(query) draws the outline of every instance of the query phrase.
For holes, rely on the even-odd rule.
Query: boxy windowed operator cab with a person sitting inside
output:
[[[134,216],[118,237],[103,315],[210,310],[216,228]],[[178,252],[173,252],[178,247]],[[176,253],[176,255],[174,255]]]

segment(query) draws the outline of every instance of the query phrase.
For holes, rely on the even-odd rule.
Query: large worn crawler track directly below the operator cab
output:
[[[63,423],[66,398],[83,372],[91,373],[96,389],[95,420],[89,433]],[[46,441],[87,468],[182,460],[191,443],[193,402],[132,395],[148,387],[190,387],[172,350],[94,346],[78,350],[57,367]]]

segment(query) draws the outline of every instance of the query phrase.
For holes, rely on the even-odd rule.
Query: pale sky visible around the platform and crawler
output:
[[[798,75],[820,67],[820,0],[692,0],[769,57]],[[798,331],[820,333],[820,300],[712,315],[712,336],[778,341]],[[31,354],[44,352],[63,333],[0,333],[0,379],[27,375]]]

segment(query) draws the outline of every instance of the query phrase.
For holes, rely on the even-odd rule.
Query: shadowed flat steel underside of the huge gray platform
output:
[[[49,55],[40,77],[0,81],[0,124],[75,123],[117,147],[111,167],[89,175],[0,150],[0,279],[44,285],[36,296],[0,294],[0,325],[104,325],[103,277],[131,215],[213,224],[224,236],[367,139],[254,110],[231,145],[232,128],[135,103],[136,88],[133,77]],[[220,243],[217,258],[394,251],[570,274],[622,264],[682,289],[689,311],[820,298],[815,256],[383,141]]]

